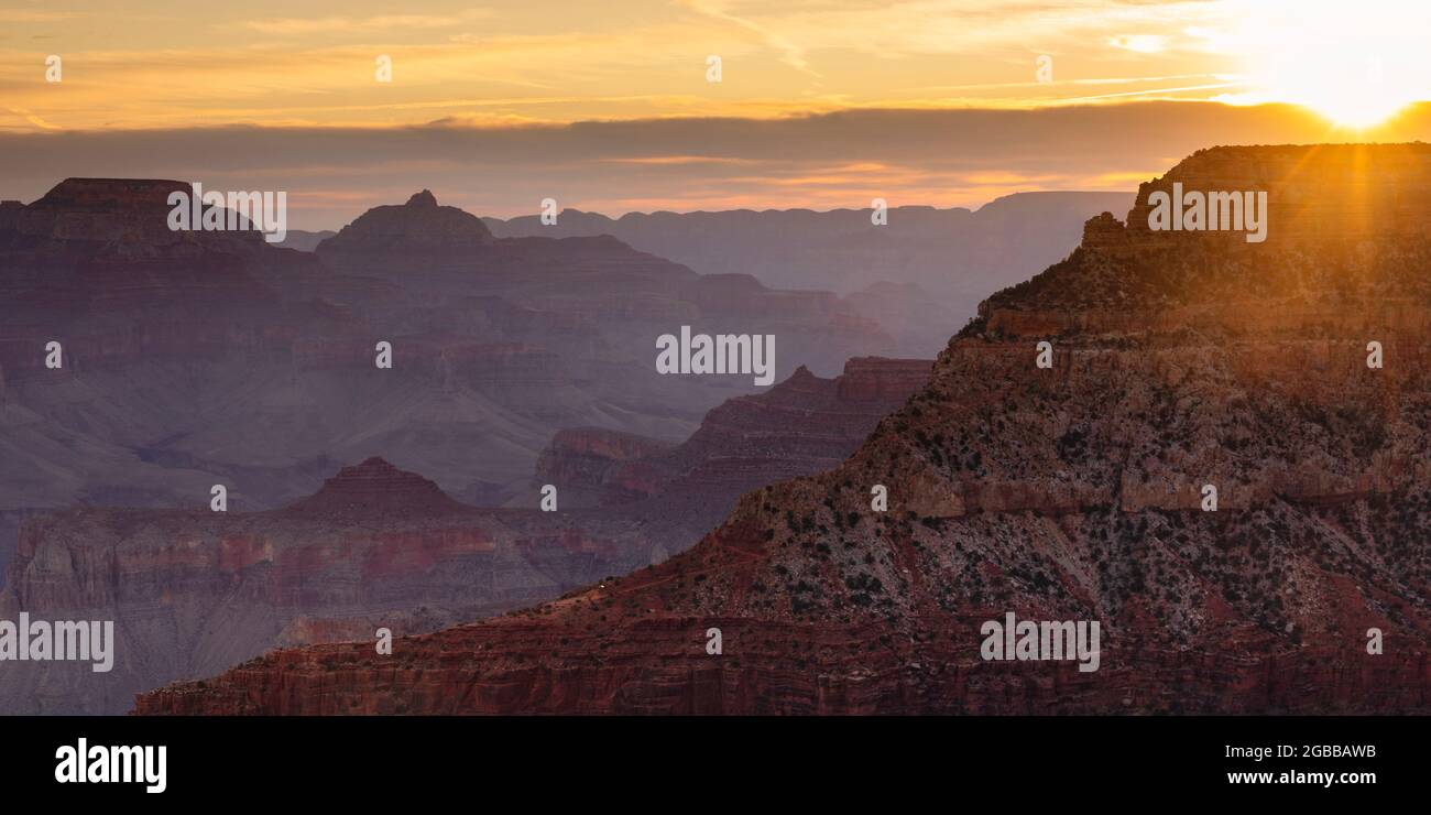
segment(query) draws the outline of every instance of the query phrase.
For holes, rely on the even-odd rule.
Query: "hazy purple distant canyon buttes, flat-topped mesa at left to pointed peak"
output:
[[[703,276],[614,238],[499,239],[428,192],[309,254],[170,231],[187,189],[67,179],[0,203],[0,563],[39,511],[193,507],[215,483],[273,508],[369,455],[521,506],[561,428],[678,443],[751,391],[663,380],[653,342],[673,322],[778,334],[777,380],[893,349],[830,292]]]

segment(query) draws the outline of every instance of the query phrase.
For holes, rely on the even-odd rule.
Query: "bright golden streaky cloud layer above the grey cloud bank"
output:
[[[462,1],[200,17],[135,0],[90,13],[92,26],[9,26],[63,29],[74,73],[54,93],[33,82],[33,53],[0,49],[0,83],[13,83],[7,105],[70,130],[761,117],[1115,100],[1130,82],[1148,89],[1138,97],[1212,97],[1246,90],[1206,77],[1245,73],[1258,42],[1236,26],[1248,7],[1226,0],[610,0],[561,13]],[[392,83],[373,80],[379,53],[394,59]],[[707,54],[723,57],[724,82],[705,82]],[[1055,82],[1036,82],[1039,54],[1053,57]],[[1407,72],[1388,60],[1387,74]]]

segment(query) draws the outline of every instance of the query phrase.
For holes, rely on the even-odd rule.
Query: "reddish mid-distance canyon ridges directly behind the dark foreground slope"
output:
[[[903,404],[929,361],[801,368],[713,410],[681,444],[597,427],[557,434],[527,508],[479,508],[382,458],[263,511],[89,507],[20,526],[0,619],[103,619],[114,666],[7,665],[0,710],[119,713],[135,693],[279,646],[411,636],[661,563],[746,490],[816,473]],[[539,484],[558,511],[537,508]]]

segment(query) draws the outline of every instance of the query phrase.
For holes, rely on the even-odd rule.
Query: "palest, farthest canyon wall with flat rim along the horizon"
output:
[[[1125,212],[1125,192],[1020,192],[979,209],[893,206],[887,223],[870,209],[736,209],[628,212],[608,218],[564,209],[485,218],[504,238],[611,235],[705,275],[748,274],[770,286],[830,289],[880,324],[902,357],[933,357],[950,328],[973,317],[990,292],[1062,259],[1090,215]]]

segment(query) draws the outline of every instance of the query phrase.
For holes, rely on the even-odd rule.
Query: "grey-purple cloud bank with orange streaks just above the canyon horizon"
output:
[[[979,206],[1032,189],[1128,191],[1212,145],[1431,139],[1431,106],[1371,135],[1289,106],[1136,102],[1033,110],[843,110],[571,125],[0,132],[0,198],[67,176],[286,191],[293,228],[346,223],[422,188],[484,215],[541,199],[621,215],[728,206]]]

